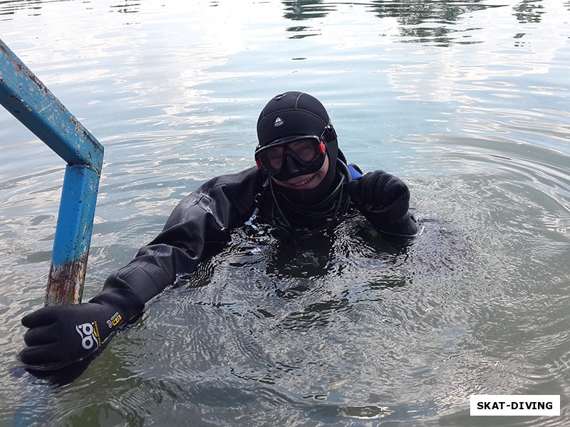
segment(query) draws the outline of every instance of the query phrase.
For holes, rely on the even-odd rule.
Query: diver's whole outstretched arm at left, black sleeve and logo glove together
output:
[[[132,322],[145,303],[191,273],[209,243],[225,243],[229,231],[251,216],[261,173],[212,179],[187,196],[172,211],[162,232],[138,251],[127,266],[108,277],[103,291],[78,305],[43,307],[24,316],[26,347],[19,357],[35,370],[52,371],[89,360]]]

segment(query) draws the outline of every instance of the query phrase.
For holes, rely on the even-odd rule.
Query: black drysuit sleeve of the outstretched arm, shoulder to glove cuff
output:
[[[257,168],[207,181],[180,201],[154,240],[107,278],[103,292],[128,290],[133,303],[145,304],[177,275],[192,273],[208,245],[226,243],[229,231],[251,216],[261,181]]]

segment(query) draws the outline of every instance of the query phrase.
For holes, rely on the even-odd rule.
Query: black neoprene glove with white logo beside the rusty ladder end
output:
[[[116,292],[116,290],[115,290]],[[43,307],[22,318],[30,328],[21,362],[41,370],[55,370],[89,357],[131,318],[142,311],[142,302],[121,309],[120,291],[102,292],[90,302]]]

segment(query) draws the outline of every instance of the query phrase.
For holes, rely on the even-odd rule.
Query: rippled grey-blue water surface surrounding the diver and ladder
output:
[[[425,223],[405,249],[358,218],[298,247],[237,230],[58,387],[16,353],[63,164],[0,109],[0,425],[569,425],[569,37],[562,0],[0,1],[0,38],[105,146],[86,299],[252,165],[285,90]],[[470,417],[472,394],[561,416]]]

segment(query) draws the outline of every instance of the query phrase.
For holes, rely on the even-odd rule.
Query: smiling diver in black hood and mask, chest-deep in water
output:
[[[245,223],[266,223],[277,238],[306,235],[357,209],[380,233],[410,238],[418,223],[408,186],[382,171],[362,174],[338,149],[325,107],[288,92],[272,98],[257,121],[256,166],[202,184],[172,211],[159,235],[111,274],[89,302],[43,307],[22,319],[29,328],[19,358],[53,371],[89,360],[134,322],[145,304],[192,273],[209,248]]]

